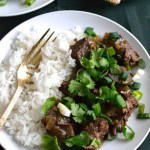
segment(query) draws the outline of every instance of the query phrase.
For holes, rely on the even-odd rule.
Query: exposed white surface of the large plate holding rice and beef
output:
[[[59,18],[59,19],[58,19]],[[26,30],[30,26],[36,24],[42,24],[53,26],[56,30],[71,29],[75,25],[80,25],[85,28],[87,26],[93,27],[98,34],[103,35],[105,32],[117,31],[125,39],[127,39],[134,49],[138,51],[140,57],[146,61],[147,67],[145,69],[144,76],[140,79],[142,83],[141,90],[144,93],[142,103],[145,103],[146,110],[150,110],[150,100],[149,100],[149,89],[150,89],[150,57],[146,52],[142,44],[125,28],[119,24],[104,18],[99,15],[80,12],[80,11],[57,11],[52,13],[47,13],[44,15],[37,16],[32,18],[21,25],[14,28],[10,33],[8,33],[0,42],[0,49],[5,51],[1,52],[0,61],[4,58],[6,53],[9,51],[10,41],[16,35],[19,30]],[[111,142],[104,142],[102,150],[133,150],[136,149],[146,138],[150,129],[150,119],[149,120],[138,120],[136,119],[137,110],[133,112],[132,116],[128,121],[128,125],[133,128],[135,131],[135,138],[131,142],[127,142],[121,139],[121,134],[119,137]],[[21,145],[18,145],[12,137],[10,137],[4,130],[0,131],[0,143],[7,150],[24,150],[25,148]]]

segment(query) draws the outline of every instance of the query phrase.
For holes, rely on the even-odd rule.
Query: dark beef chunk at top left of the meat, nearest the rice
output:
[[[93,40],[88,37],[83,38],[70,47],[72,50],[71,57],[77,61],[82,57],[88,57],[90,50],[96,48],[95,46],[96,44]]]

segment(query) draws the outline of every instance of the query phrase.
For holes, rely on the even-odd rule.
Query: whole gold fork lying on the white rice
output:
[[[42,59],[41,48],[46,45],[46,43],[50,40],[50,38],[54,34],[54,32],[52,32],[48,36],[49,31],[50,31],[50,29],[48,29],[42,35],[42,37],[38,40],[38,42],[31,48],[30,52],[25,55],[21,65],[19,66],[19,69],[17,71],[17,82],[18,82],[17,90],[16,90],[14,96],[12,97],[10,103],[8,104],[6,110],[4,111],[3,115],[0,118],[0,129],[5,124],[8,116],[10,115],[14,105],[17,102],[17,99],[19,98],[20,94],[22,93],[22,91],[25,87],[25,84],[31,78],[31,76],[32,76],[31,72],[35,71],[38,68],[39,63]],[[48,36],[48,37],[46,37],[46,36]],[[45,37],[46,37],[46,39],[45,39]],[[54,42],[55,39],[56,39],[56,37],[52,40],[52,42]],[[30,64],[32,64],[32,65],[30,65]],[[30,66],[32,66],[32,67],[30,67]]]

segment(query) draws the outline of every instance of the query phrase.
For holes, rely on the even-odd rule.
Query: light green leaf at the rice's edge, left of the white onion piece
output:
[[[42,106],[42,113],[46,115],[48,111],[57,104],[55,97],[48,98]]]

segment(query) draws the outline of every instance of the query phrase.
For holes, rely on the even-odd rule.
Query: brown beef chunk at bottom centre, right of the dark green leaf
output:
[[[101,142],[104,141],[108,129],[108,121],[102,118],[98,118],[96,121],[91,121],[85,126],[85,130],[90,134],[91,138],[97,138]]]

